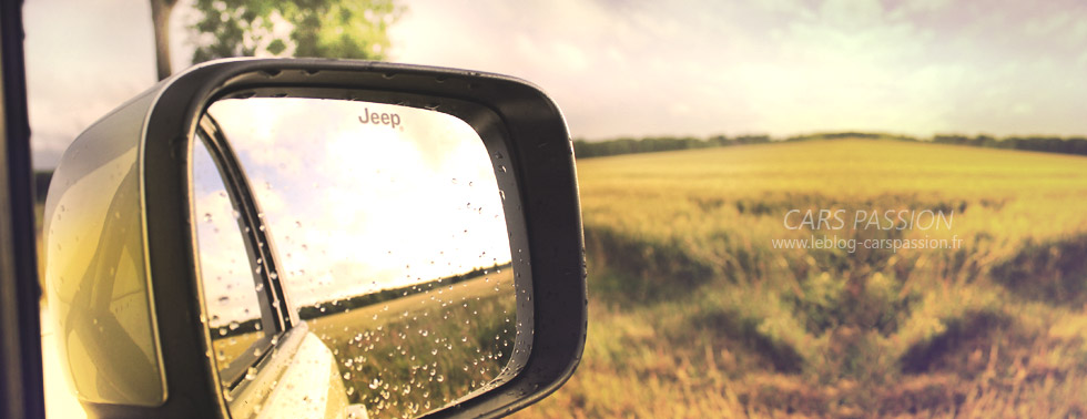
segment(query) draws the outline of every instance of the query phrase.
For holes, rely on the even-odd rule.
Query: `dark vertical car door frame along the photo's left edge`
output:
[[[41,328],[22,2],[0,2],[0,417],[42,418]]]

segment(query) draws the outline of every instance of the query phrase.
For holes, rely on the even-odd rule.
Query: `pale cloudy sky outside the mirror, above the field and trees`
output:
[[[529,80],[573,137],[1087,134],[1087,2],[405,0],[390,60]],[[182,0],[175,71],[192,48]],[[150,7],[28,0],[35,165],[151,86]]]

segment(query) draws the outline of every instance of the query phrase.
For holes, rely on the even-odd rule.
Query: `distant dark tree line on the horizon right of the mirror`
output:
[[[578,159],[591,159],[619,154],[710,149],[741,144],[839,139],[931,142],[938,144],[1087,155],[1087,137],[1083,136],[1007,136],[997,139],[991,135],[966,136],[939,134],[932,137],[915,137],[910,135],[866,132],[819,133],[795,135],[783,139],[773,139],[770,135],[740,135],[734,137],[714,135],[705,139],[697,139],[692,136],[648,136],[642,139],[619,137],[605,141],[587,141],[583,139],[578,139],[573,141],[573,152]]]

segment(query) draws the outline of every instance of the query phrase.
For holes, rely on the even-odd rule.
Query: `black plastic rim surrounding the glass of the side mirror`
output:
[[[536,296],[529,304],[538,321],[527,330],[534,347],[525,355],[524,368],[505,384],[427,417],[508,415],[542,399],[573,374],[587,325],[580,205],[569,133],[558,108],[542,91],[514,78],[420,65],[323,59],[220,60],[160,83],[144,124],[141,154],[148,259],[155,283],[160,338],[172,343],[163,345],[171,397],[155,415],[226,415],[211,371],[214,366],[204,361],[210,346],[197,306],[187,151],[195,139],[197,119],[216,94],[257,85],[319,85],[439,96],[492,111],[508,133],[506,145],[521,194],[530,276],[547,278],[518,284],[527,285]],[[177,296],[186,297],[181,298],[182,305],[176,304]]]

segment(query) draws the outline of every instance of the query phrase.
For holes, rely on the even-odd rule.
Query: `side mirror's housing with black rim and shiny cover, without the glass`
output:
[[[92,416],[228,417],[209,357],[189,160],[206,108],[219,99],[248,96],[365,100],[445,112],[473,126],[492,151],[492,162],[508,171],[498,181],[510,244],[524,251],[512,262],[518,350],[495,386],[425,417],[507,415],[542,399],[573,374],[587,327],[581,215],[572,144],[546,94],[517,79],[451,69],[222,60],[164,80],[95,123],[65,153],[50,188],[45,233],[54,241],[47,238],[47,292],[67,314],[59,319],[61,358],[94,364],[95,384],[80,376],[87,374],[82,367],[70,368]],[[245,176],[237,167],[228,172]],[[90,193],[94,190],[98,195]],[[88,200],[96,218],[77,221],[73,212],[83,211]],[[88,225],[99,238],[79,242],[78,229]],[[91,263],[80,262],[88,257]],[[116,287],[118,269],[132,273],[130,287],[142,289],[123,305],[92,292]],[[301,320],[293,315],[292,321]],[[131,339],[126,351],[109,350],[123,330],[143,338]],[[73,345],[90,359],[72,358]],[[140,352],[148,362],[123,362]],[[119,372],[122,368],[126,372]],[[103,380],[108,391],[89,390]]]

